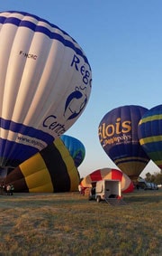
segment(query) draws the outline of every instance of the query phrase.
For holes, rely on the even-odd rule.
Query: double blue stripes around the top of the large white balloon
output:
[[[38,21],[49,24],[46,20],[40,19],[39,17],[37,17],[35,15],[31,15],[31,14],[27,14],[27,13],[21,13],[21,12],[7,12],[7,13],[18,13],[18,14],[28,15],[28,16],[36,18]],[[2,13],[0,13],[0,14],[2,14]],[[34,32],[44,33],[47,36],[49,36],[49,38],[58,40],[59,42],[63,43],[65,46],[73,49],[78,55],[80,55],[85,60],[85,63],[87,63],[89,65],[89,62],[88,62],[85,54],[79,48],[76,48],[74,43],[66,40],[63,36],[61,36],[58,33],[51,32],[46,27],[43,27],[43,26],[40,26],[40,25],[37,25],[37,24],[33,24],[30,21],[22,21],[21,19],[18,19],[18,18],[15,18],[15,17],[8,17],[7,18],[7,17],[4,17],[4,16],[0,16],[0,24],[14,24],[16,26],[23,26],[23,27],[30,28]],[[57,26],[55,26],[53,24],[49,24],[49,25],[51,27],[57,28],[62,33],[65,33],[64,31],[62,31]],[[65,33],[65,34],[67,34],[67,33]],[[76,41],[71,36],[69,36],[69,37],[76,43]],[[91,70],[90,65],[89,65],[89,68]]]

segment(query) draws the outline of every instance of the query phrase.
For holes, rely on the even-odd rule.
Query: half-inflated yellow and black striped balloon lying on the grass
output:
[[[79,173],[67,147],[58,137],[53,144],[14,168],[4,183],[14,185],[15,192],[76,191]]]

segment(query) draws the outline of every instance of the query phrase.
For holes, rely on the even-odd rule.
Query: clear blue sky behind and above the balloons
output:
[[[148,109],[162,100],[161,0],[0,0],[0,11],[24,11],[58,25],[83,48],[93,71],[85,112],[67,131],[85,145],[79,173],[116,167],[105,154],[98,126],[123,105]],[[141,175],[158,172],[152,162]]]

